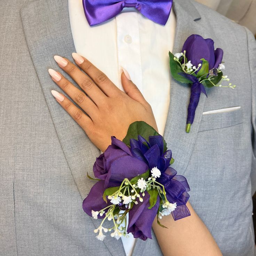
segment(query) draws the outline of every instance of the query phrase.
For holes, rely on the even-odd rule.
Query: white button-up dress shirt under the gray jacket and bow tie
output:
[[[69,16],[75,50],[86,57],[121,90],[124,67],[151,105],[163,135],[170,99],[169,55],[174,44],[176,17],[173,9],[165,26],[152,22],[135,8],[124,8],[109,21],[90,27],[82,0],[69,0]],[[126,255],[135,239],[122,237]]]

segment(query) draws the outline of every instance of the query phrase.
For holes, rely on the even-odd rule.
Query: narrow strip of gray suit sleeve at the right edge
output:
[[[256,40],[254,35],[247,29],[248,57],[251,76],[251,193],[256,191]]]

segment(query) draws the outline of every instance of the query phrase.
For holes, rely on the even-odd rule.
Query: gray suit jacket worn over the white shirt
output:
[[[186,134],[190,89],[171,82],[164,136],[174,168],[189,181],[190,202],[223,255],[252,256],[256,43],[247,29],[199,3],[175,0],[173,8],[173,52],[193,33],[212,38],[237,85],[201,95]],[[60,71],[53,56],[72,59],[75,51],[67,0],[0,1],[0,35],[0,255],[124,256],[121,240],[95,238],[99,220],[81,207],[99,150],[50,93],[59,89],[47,72]],[[241,109],[202,115],[233,106]],[[161,255],[156,238],[137,240],[133,255]]]

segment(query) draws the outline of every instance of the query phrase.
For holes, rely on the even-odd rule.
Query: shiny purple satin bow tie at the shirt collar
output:
[[[165,25],[173,0],[82,0],[85,16],[90,26],[117,16],[125,7],[135,7],[153,22]]]

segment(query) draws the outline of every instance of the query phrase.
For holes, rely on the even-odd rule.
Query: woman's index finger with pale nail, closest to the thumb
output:
[[[110,79],[97,67],[95,67],[91,62],[89,62],[85,57],[78,55],[77,53],[72,53],[75,63],[85,71],[91,79],[98,85],[99,88],[109,97],[114,97],[120,90],[110,81]]]

